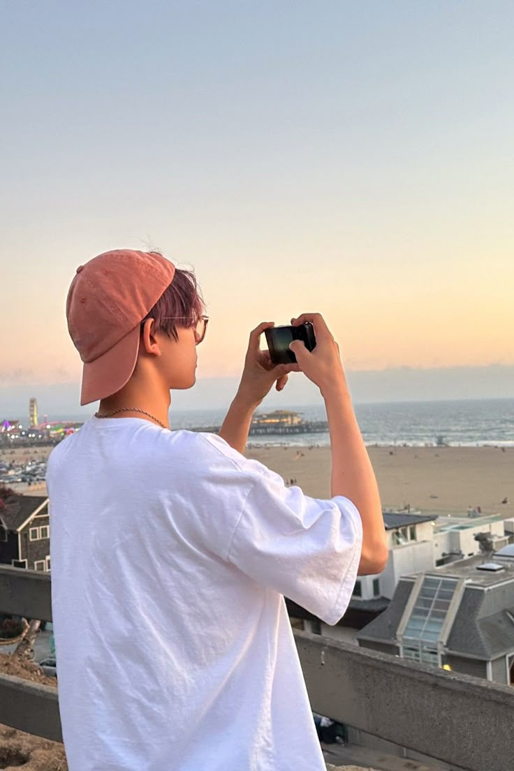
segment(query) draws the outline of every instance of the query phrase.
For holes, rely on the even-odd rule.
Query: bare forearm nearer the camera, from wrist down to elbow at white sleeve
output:
[[[325,391],[331,442],[331,496],[349,498],[361,515],[359,574],[378,573],[387,561],[387,540],[378,484],[361,436],[347,386]]]

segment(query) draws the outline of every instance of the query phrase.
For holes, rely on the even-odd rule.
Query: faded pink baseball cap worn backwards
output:
[[[136,369],[140,324],[173,281],[175,266],[153,251],[115,249],[79,265],[66,299],[80,354],[80,403],[116,393]]]

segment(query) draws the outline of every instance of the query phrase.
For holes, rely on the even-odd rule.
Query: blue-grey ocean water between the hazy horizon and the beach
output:
[[[257,412],[271,412],[263,406]],[[284,405],[305,420],[326,420],[323,402]],[[450,446],[514,447],[514,399],[465,399],[438,402],[354,404],[367,445],[435,446],[438,437]],[[226,409],[170,410],[173,429],[220,426]],[[58,418],[51,418],[58,419]],[[84,420],[68,416],[69,420]],[[291,436],[250,436],[249,445],[327,446],[328,432]]]

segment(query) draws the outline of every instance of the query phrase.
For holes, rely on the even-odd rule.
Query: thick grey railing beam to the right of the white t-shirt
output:
[[[294,630],[312,709],[466,771],[512,771],[514,689]]]

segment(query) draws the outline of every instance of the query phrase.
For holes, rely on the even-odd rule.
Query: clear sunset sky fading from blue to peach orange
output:
[[[4,393],[79,383],[66,293],[119,247],[195,269],[199,377],[311,310],[348,371],[514,365],[513,25],[496,0],[4,4]]]

